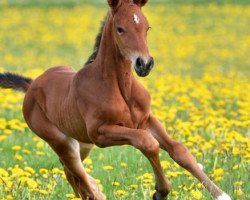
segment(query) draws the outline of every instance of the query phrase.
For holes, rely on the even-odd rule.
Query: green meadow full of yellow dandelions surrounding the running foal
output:
[[[36,77],[58,64],[79,69],[106,10],[0,7],[0,72]],[[232,199],[250,199],[250,6],[153,4],[144,13],[156,65],[140,80],[152,112]],[[76,199],[53,151],[27,128],[23,96],[0,89],[0,200]],[[211,199],[165,152],[161,160],[170,200]],[[139,151],[95,148],[84,165],[107,200],[151,199],[152,169]]]

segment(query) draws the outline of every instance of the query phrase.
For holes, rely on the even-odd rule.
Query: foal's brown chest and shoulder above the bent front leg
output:
[[[144,127],[150,112],[150,95],[137,82],[132,85],[128,87],[131,91],[126,91],[96,79],[80,81],[79,108],[89,132],[96,132],[103,124]]]

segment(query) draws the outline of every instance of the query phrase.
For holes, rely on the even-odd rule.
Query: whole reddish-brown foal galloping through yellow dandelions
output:
[[[159,160],[167,151],[215,199],[229,200],[202,171],[187,148],[171,139],[150,113],[150,95],[132,74],[147,76],[154,65],[147,47],[149,24],[141,7],[147,0],[108,0],[110,11],[97,37],[96,51],[78,72],[54,67],[34,81],[0,74],[0,86],[26,92],[23,114],[28,126],[58,155],[67,179],[82,199],[104,200],[82,165],[92,147],[132,145],[152,165],[155,200],[166,199],[170,183]]]

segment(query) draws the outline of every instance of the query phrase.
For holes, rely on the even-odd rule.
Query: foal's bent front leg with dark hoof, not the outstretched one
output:
[[[98,129],[98,135],[95,135],[93,141],[99,147],[128,144],[139,149],[148,158],[154,170],[157,190],[154,199],[165,199],[170,191],[170,184],[160,165],[159,143],[148,131],[118,125],[103,125]]]

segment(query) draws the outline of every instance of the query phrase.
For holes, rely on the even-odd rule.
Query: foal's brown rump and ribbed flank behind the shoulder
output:
[[[74,72],[52,68],[38,77],[26,93],[23,113],[29,126],[34,126],[34,112],[41,112],[46,120],[63,134],[90,143],[86,126],[74,100]],[[39,109],[35,109],[39,107]],[[46,134],[46,133],[45,133]]]

